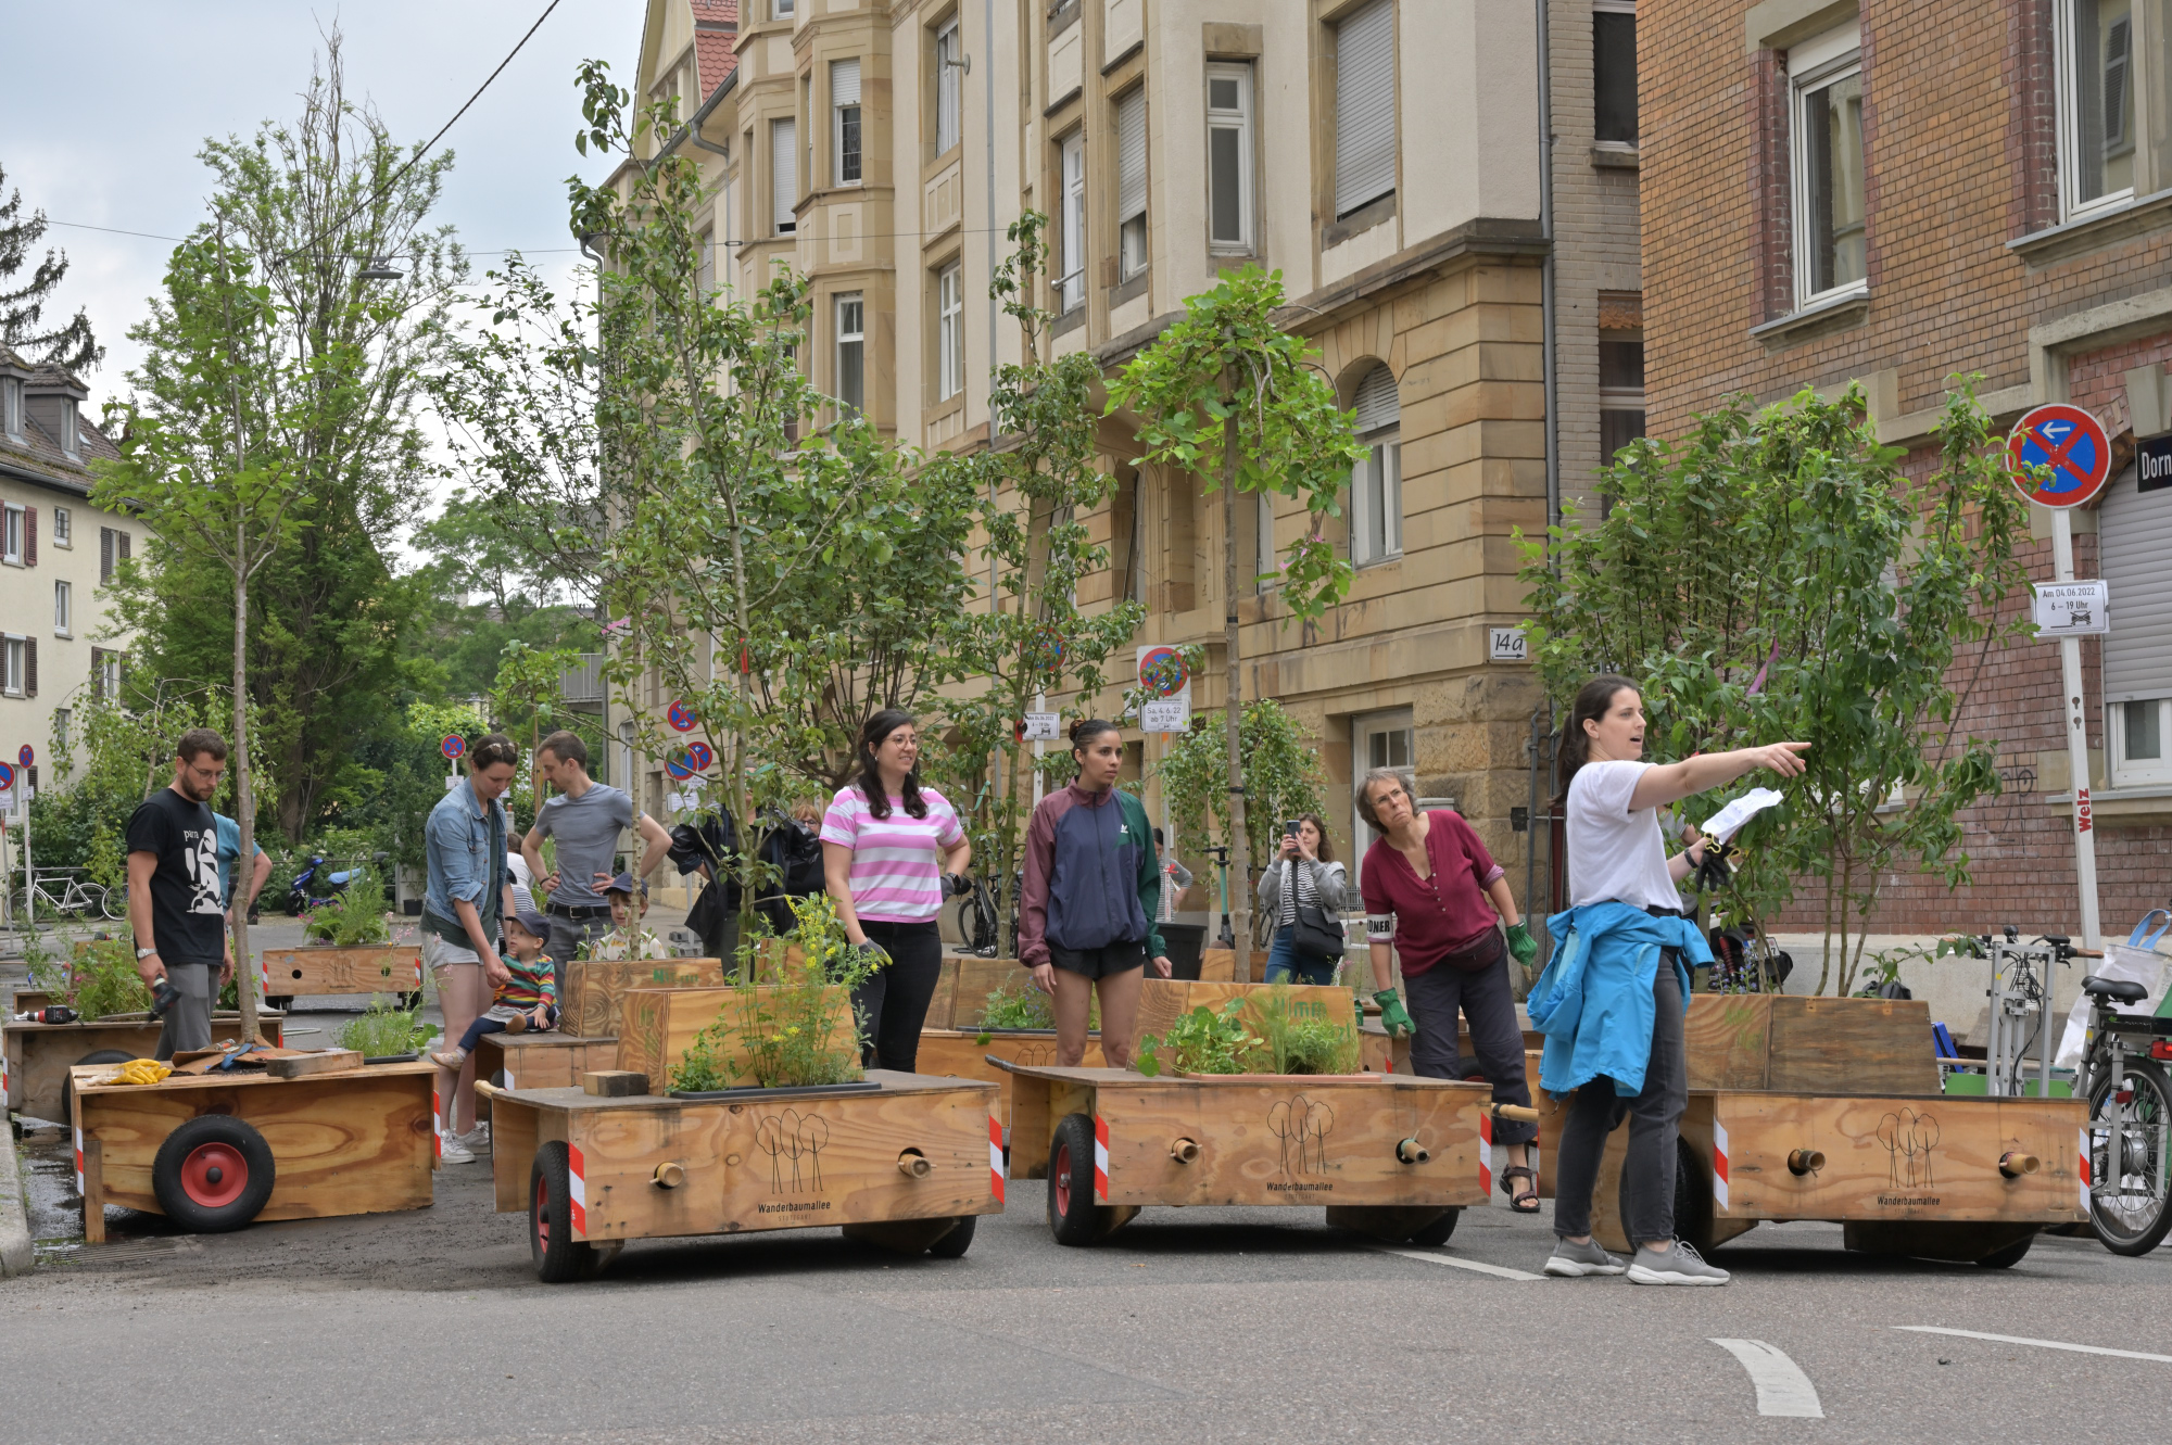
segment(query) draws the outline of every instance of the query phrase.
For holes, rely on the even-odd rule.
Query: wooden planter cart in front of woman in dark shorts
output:
[[[1483,1085],[999,1067],[1012,1074],[1010,1174],[1049,1180],[1049,1228],[1066,1245],[1147,1204],[1325,1206],[1327,1224],[1438,1245],[1490,1187]]]

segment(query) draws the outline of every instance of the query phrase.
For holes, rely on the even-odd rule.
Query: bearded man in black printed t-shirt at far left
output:
[[[211,1009],[235,974],[219,898],[219,827],[211,794],[226,772],[226,738],[193,727],[174,744],[174,785],[128,818],[128,924],[146,985],[180,992],[159,1033],[159,1059],[211,1048]]]

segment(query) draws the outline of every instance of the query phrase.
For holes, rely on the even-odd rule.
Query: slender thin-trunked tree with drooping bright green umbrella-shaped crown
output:
[[[1184,319],[1140,349],[1108,386],[1108,410],[1138,419],[1149,462],[1199,473],[1223,495],[1223,649],[1227,707],[1223,749],[1232,798],[1232,857],[1249,857],[1240,714],[1245,703],[1238,644],[1238,493],[1275,490],[1305,503],[1308,525],[1284,553],[1279,597],[1292,618],[1312,621],[1349,592],[1351,566],[1327,540],[1327,519],[1362,456],[1351,414],[1314,362],[1303,336],[1275,323],[1281,271],[1247,265],[1212,291],[1184,302]],[[1232,890],[1238,976],[1249,968],[1249,890]]]

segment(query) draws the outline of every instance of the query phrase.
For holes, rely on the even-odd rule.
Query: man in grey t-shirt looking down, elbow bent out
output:
[[[619,833],[628,827],[641,833],[645,848],[634,870],[641,879],[671,851],[671,835],[647,814],[634,811],[630,796],[589,777],[589,744],[576,733],[556,731],[545,738],[536,746],[536,766],[558,788],[558,796],[536,807],[536,824],[521,840],[521,859],[550,894],[550,946],[543,952],[558,966],[563,981],[565,966],[582,942],[610,933],[604,887],[617,872]],[[558,840],[556,870],[543,868],[545,837]]]

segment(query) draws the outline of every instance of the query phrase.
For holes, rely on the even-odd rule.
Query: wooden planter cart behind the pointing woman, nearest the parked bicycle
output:
[[[2040,1230],[2089,1217],[2087,1104],[1942,1096],[1920,1000],[1696,994],[1685,1041],[1675,1232],[1699,1250],[1824,1219],[1848,1250],[2005,1267]],[[1566,1120],[1527,1059],[1544,1150]],[[1592,1191],[1592,1230],[1616,1252],[1625,1148],[1616,1130]]]

